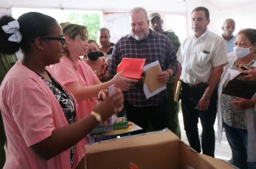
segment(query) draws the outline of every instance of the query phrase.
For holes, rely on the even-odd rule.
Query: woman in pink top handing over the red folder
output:
[[[51,66],[61,83],[67,87],[76,101],[78,112],[81,117],[90,114],[93,106],[98,101],[99,91],[115,84],[121,90],[128,90],[137,80],[123,78],[120,73],[110,81],[101,83],[92,68],[80,56],[87,54],[88,33],[86,26],[68,24],[63,28],[65,37],[66,54],[60,59],[60,63]]]

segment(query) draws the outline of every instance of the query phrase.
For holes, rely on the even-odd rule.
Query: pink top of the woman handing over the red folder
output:
[[[66,85],[70,82],[79,82],[80,85],[87,87],[96,85],[100,82],[92,68],[85,61],[77,59],[76,63],[78,65],[78,70],[75,69],[72,62],[66,57],[62,57],[60,63],[51,65],[51,69],[55,75],[58,76],[61,84]],[[96,102],[96,97],[78,102],[79,115],[84,117],[85,115],[90,114]]]

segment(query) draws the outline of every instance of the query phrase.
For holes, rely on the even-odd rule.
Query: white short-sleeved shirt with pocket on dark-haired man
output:
[[[226,43],[219,35],[206,30],[199,38],[195,35],[186,38],[177,58],[182,67],[182,81],[187,84],[208,83],[213,68],[228,62]]]

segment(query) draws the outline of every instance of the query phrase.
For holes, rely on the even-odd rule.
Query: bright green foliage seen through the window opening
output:
[[[66,19],[64,22],[76,23],[84,25],[87,28],[89,38],[97,41],[97,32],[100,28],[100,16],[98,13],[69,13],[64,14]]]

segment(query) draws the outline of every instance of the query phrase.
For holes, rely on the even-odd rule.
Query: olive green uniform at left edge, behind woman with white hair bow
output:
[[[16,63],[17,57],[16,55],[0,55],[0,84],[4,79],[4,76],[11,69],[11,67]],[[5,163],[5,151],[4,144],[6,141],[4,124],[2,122],[2,115],[0,112],[0,168],[4,167]]]

